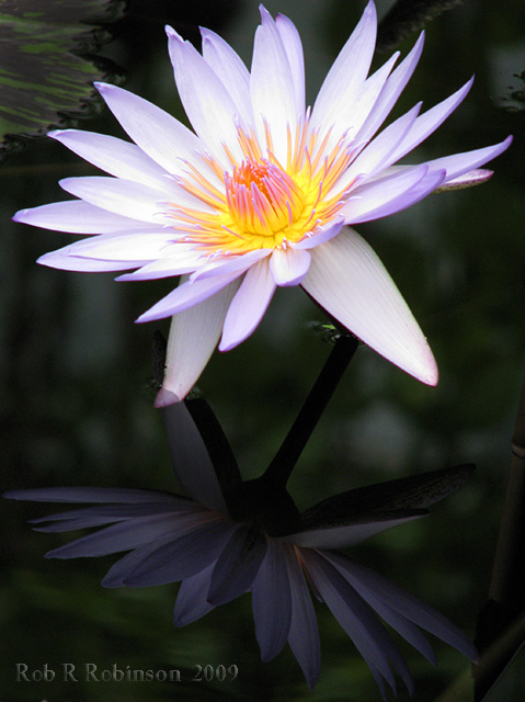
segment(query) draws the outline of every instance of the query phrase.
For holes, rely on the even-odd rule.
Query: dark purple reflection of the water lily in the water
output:
[[[210,443],[220,460],[214,463],[189,410],[193,407],[195,414],[199,401],[166,410],[173,468],[189,497],[92,487],[4,494],[18,500],[90,505],[32,520],[43,532],[101,528],[47,557],[129,552],[102,585],[146,587],[182,580],[176,626],[251,591],[262,659],[271,660],[288,642],[310,688],[320,671],[320,641],[309,586],[354,642],[385,699],[385,682],[396,691],[391,668],[410,693],[413,681],[378,616],[434,664],[421,630],[476,659],[473,645],[445,616],[336,551],[423,517],[429,506],[467,479],[471,466],[358,488],[299,514],[288,494],[269,489],[264,479],[242,483],[228,446],[224,450],[217,435]]]

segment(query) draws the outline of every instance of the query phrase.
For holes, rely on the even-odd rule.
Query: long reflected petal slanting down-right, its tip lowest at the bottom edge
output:
[[[368,604],[321,554],[306,552],[306,567],[324,602],[366,663],[377,668],[396,692],[396,682],[388,665],[390,659],[412,694],[413,681],[407,663]]]

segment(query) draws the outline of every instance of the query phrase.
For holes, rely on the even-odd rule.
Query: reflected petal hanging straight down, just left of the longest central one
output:
[[[264,663],[275,658],[288,638],[292,595],[285,547],[269,539],[267,551],[252,587],[255,636]]]

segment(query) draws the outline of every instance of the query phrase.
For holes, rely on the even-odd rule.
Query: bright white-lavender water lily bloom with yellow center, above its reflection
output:
[[[285,16],[261,7],[251,70],[202,30],[203,53],[167,27],[179,94],[194,132],[121,88],[95,83],[134,144],[79,132],[49,136],[110,177],[67,178],[78,200],[16,213],[26,224],[94,235],[43,256],[72,271],[138,269],[117,280],[181,275],[137,321],[173,317],[159,406],[186,396],[217,342],[228,351],[258,327],[277,286],[301,285],[329,315],[423,383],[430,347],[384,265],[349,225],[397,213],[427,194],[486,180],[501,144],[396,166],[466,97],[471,80],[378,133],[420,58],[368,76],[377,19],[370,1],[305,106],[303,47]],[[471,171],[475,171],[471,176]],[[458,180],[459,179],[459,180]]]

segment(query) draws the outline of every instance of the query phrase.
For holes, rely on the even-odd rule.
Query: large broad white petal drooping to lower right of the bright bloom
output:
[[[429,385],[437,367],[418,322],[372,248],[352,229],[319,246],[303,287],[365,343]]]

